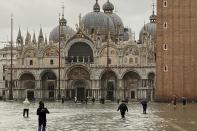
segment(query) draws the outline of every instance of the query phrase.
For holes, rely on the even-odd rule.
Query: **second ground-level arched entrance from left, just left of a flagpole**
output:
[[[41,77],[42,98],[54,100],[56,96],[57,77],[52,71],[45,72]]]

